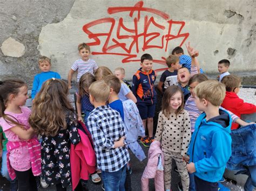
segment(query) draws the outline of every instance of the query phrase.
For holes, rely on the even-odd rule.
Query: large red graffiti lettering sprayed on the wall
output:
[[[158,48],[163,49],[166,52],[170,45],[170,41],[183,38],[179,45],[182,46],[189,36],[189,33],[182,32],[185,22],[169,19],[169,15],[159,10],[144,8],[143,1],[136,3],[134,6],[111,7],[107,9],[107,12],[110,15],[130,12],[129,16],[133,18],[133,26],[132,28],[125,26],[123,17],[120,17],[119,19],[102,18],[85,24],[83,26],[83,31],[87,34],[89,39],[94,40],[87,44],[89,46],[103,45],[102,52],[92,52],[93,55],[118,55],[124,57],[122,60],[123,63],[137,62],[140,61],[137,58],[140,51],[145,52],[148,49]],[[137,12],[137,16],[133,17],[135,12]],[[151,13],[153,16],[146,15],[142,20],[142,12]],[[159,20],[159,18],[154,16],[164,19],[164,22],[159,24],[159,21],[156,21]],[[116,20],[118,21],[117,24]],[[144,24],[143,29],[139,29],[139,24],[142,24],[140,22]],[[100,25],[103,31],[99,33],[92,32],[98,25]],[[117,27],[117,30],[113,31],[115,26]],[[174,34],[173,30],[177,29],[177,27],[179,30]],[[129,43],[127,43],[127,41]],[[137,54],[134,54],[134,52]],[[165,65],[164,57],[160,57],[153,61]],[[161,68],[158,69],[158,71],[164,69],[165,68]]]

